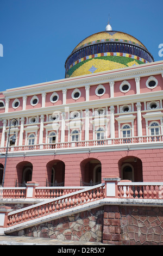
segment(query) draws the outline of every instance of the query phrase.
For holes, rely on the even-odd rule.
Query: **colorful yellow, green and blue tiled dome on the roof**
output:
[[[74,48],[65,62],[65,78],[154,62],[152,54],[134,36],[107,28]]]

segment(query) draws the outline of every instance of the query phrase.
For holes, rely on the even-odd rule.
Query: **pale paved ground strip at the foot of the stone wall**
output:
[[[40,237],[27,237],[27,236],[8,236],[0,235],[0,245],[57,245],[57,246],[104,246],[100,242],[80,242],[71,240],[58,240],[58,239],[47,239]]]

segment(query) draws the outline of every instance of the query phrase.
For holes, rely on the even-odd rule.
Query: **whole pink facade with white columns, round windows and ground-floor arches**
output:
[[[1,183],[8,137],[6,187],[30,180],[80,186],[112,174],[162,180],[162,64],[1,93]]]

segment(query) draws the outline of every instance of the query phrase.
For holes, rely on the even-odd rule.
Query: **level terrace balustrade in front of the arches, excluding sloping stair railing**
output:
[[[99,185],[92,186],[98,187]],[[33,199],[51,199],[86,189],[79,187],[36,187]],[[89,190],[90,186],[87,186]],[[27,187],[0,187],[0,199],[25,199]],[[118,199],[163,199],[163,182],[126,182],[117,184]]]

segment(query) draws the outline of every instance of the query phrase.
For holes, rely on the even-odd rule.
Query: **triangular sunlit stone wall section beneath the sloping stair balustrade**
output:
[[[103,208],[96,208],[42,223],[10,235],[101,242],[103,234],[103,212]]]

